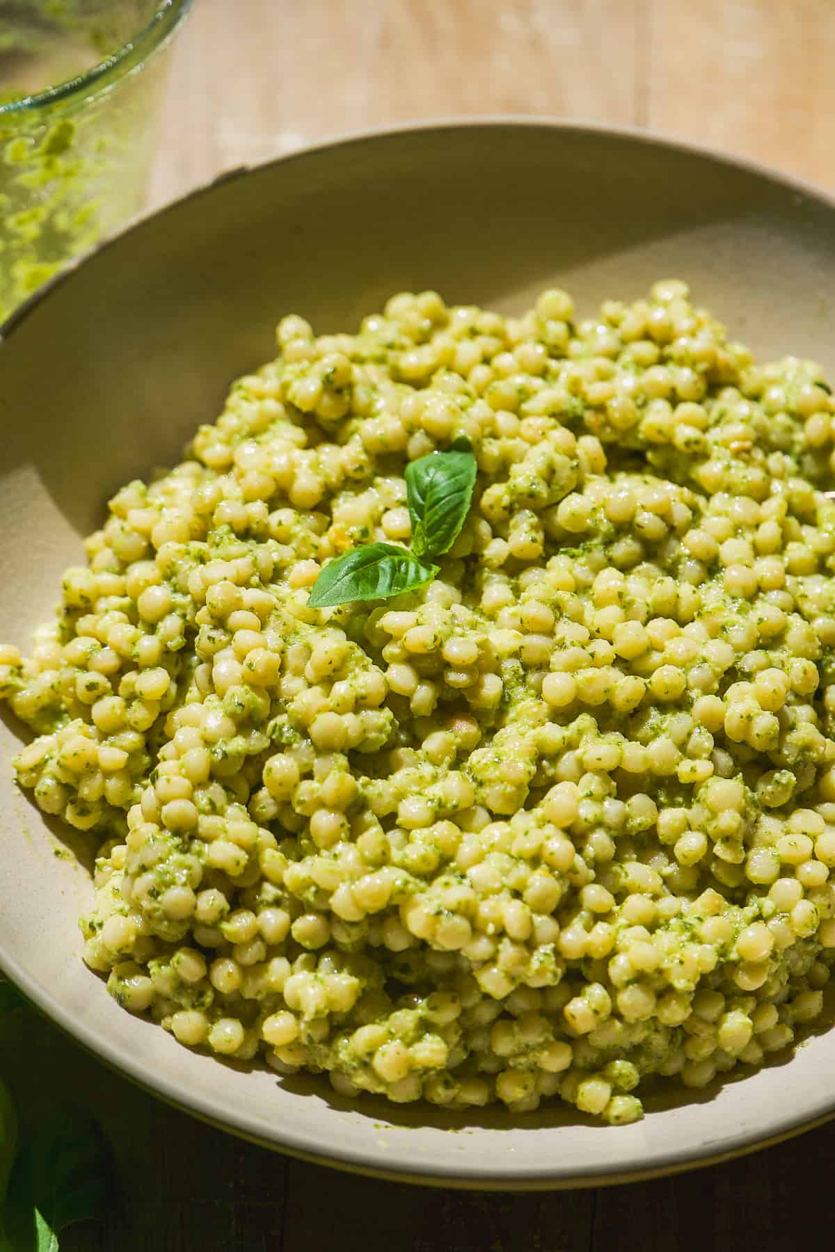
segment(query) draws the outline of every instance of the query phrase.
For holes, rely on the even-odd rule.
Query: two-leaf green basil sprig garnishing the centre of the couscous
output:
[[[412,547],[364,543],[337,557],[313,583],[308,606],[332,608],[357,600],[388,600],[423,587],[438,573],[431,560],[456,542],[467,520],[478,466],[472,452],[433,452],[406,467]]]

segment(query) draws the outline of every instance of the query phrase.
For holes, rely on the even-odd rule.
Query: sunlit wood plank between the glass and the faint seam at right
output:
[[[645,0],[197,0],[158,204],[325,135],[453,114],[636,120]]]

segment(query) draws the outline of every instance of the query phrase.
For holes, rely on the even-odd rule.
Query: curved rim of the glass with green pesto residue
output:
[[[114,85],[114,81],[120,81],[133,70],[141,69],[168,43],[180,23],[184,21],[190,6],[192,0],[161,0],[145,26],[121,48],[98,61],[84,74],[76,74],[75,78],[65,79],[55,86],[44,88],[43,91],[33,91],[31,95],[21,96],[19,100],[0,104],[0,119],[38,113],[49,105],[71,101],[75,98],[80,100],[94,99]]]

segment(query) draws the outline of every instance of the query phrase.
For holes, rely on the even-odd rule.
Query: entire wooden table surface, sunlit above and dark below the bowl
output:
[[[834,54],[832,0],[195,0],[150,198],[339,131],[479,113],[651,126],[835,187]],[[108,1221],[65,1252],[776,1252],[829,1222],[835,1123],[628,1187],[424,1191],[238,1142],[25,1030],[0,1032],[0,1072],[26,1114],[69,1092],[119,1161]]]

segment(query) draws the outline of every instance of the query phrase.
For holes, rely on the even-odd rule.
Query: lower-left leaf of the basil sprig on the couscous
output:
[[[408,548],[366,543],[328,561],[313,583],[308,606],[330,608],[354,600],[387,600],[422,587],[437,572],[437,566],[423,565]]]

